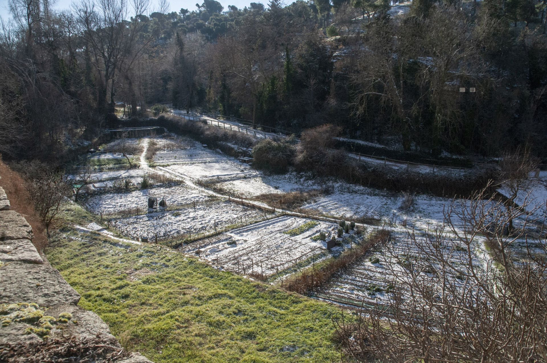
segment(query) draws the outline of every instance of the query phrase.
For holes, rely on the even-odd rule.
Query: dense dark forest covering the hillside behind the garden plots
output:
[[[0,152],[42,158],[156,103],[431,153],[547,155],[545,0],[298,0],[151,12],[148,0],[10,0]],[[408,11],[407,11],[408,10]],[[465,92],[461,92],[464,88]],[[475,92],[470,92],[471,90]]]

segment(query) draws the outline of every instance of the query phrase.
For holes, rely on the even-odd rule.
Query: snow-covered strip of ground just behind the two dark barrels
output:
[[[206,200],[206,195],[200,194],[193,188],[185,185],[174,187],[160,187],[135,191],[130,193],[106,193],[95,194],[86,198],[84,206],[92,213],[113,213],[128,209],[140,208],[146,211],[148,197],[165,199],[167,206],[184,205],[193,201],[201,203]]]

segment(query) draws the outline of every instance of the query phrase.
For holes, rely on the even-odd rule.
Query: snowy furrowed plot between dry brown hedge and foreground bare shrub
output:
[[[363,301],[365,305],[386,304],[393,297],[390,291],[405,286],[404,281],[411,278],[423,280],[438,289],[443,284],[456,288],[462,285],[463,275],[446,273],[443,266],[427,256],[433,251],[441,251],[452,266],[466,273],[469,271],[469,260],[465,246],[451,240],[450,236],[435,246],[438,240],[429,239],[425,233],[417,233],[415,238],[410,238],[406,229],[393,229],[391,236],[392,240],[386,246],[369,252],[351,269],[332,278],[317,296],[359,307]],[[478,241],[473,251],[472,261],[476,271],[484,271],[486,254],[481,246]],[[401,291],[401,294],[405,298],[410,292]]]

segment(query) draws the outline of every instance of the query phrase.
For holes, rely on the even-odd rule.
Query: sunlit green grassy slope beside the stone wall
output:
[[[75,205],[63,217],[81,224],[94,218]],[[340,310],[322,302],[166,247],[115,243],[68,227],[50,239],[46,254],[82,295],[80,306],[99,314],[126,348],[156,363],[339,358],[331,318]],[[287,346],[294,352],[284,352]]]

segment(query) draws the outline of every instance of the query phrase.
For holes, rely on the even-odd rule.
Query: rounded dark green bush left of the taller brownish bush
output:
[[[253,166],[282,174],[287,172],[294,153],[294,146],[287,141],[262,140],[253,147]]]

